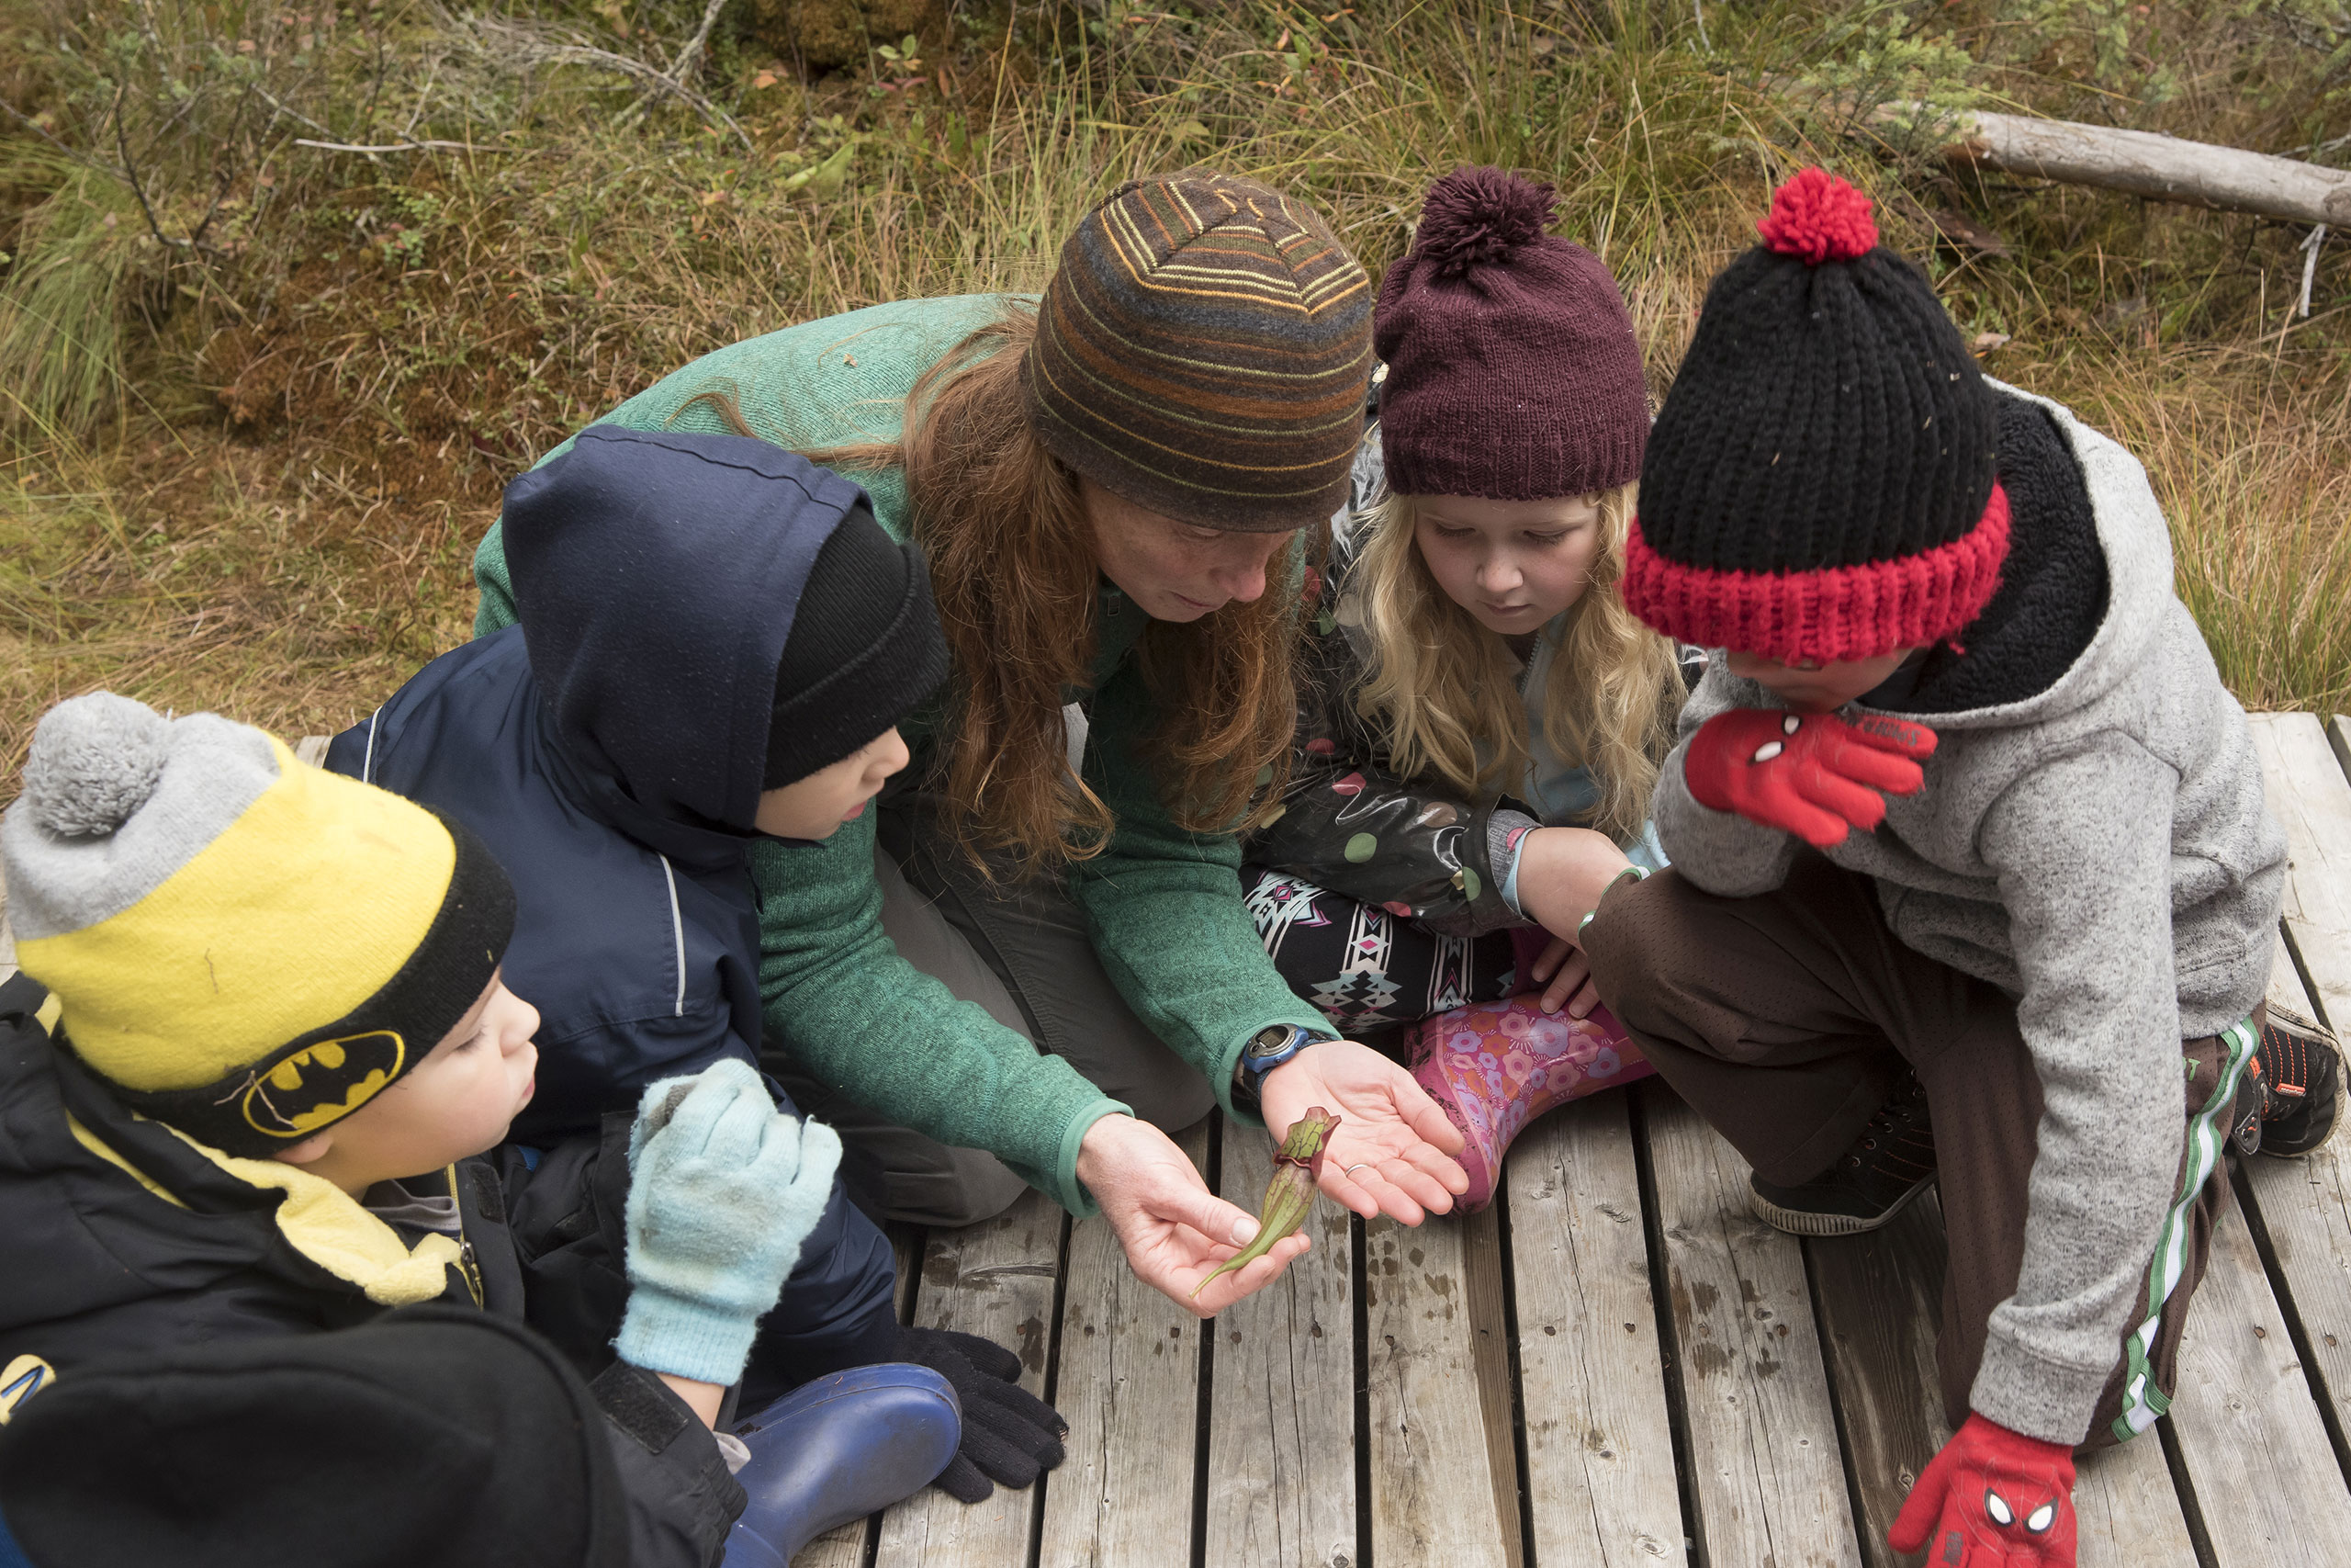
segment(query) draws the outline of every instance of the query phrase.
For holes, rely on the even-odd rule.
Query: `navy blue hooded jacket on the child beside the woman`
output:
[[[776,665],[816,552],[860,505],[759,440],[583,430],[505,491],[522,623],[435,658],[329,745],[329,769],[463,820],[515,884],[505,985],[541,1016],[517,1143],[592,1135],[724,1056],[759,1065],[748,849]],[[889,1241],[835,1182],[759,1359],[886,1359],[893,1284]]]

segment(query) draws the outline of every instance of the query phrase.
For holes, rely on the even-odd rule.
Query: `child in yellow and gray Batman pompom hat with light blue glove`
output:
[[[0,1295],[9,1403],[158,1345],[428,1300],[522,1319],[529,1190],[480,1154],[531,1100],[538,1013],[501,978],[515,896],[489,851],[256,729],[110,693],[52,710],[24,778],[0,820],[24,964],[0,987],[0,1229],[31,1281]],[[592,1387],[632,1561],[712,1563],[750,1458],[708,1429],[839,1140],[729,1060],[651,1086],[628,1164],[632,1293]],[[832,1443],[912,1422],[863,1443],[893,1486],[858,1512],[955,1455],[947,1385],[889,1382],[891,1410],[795,1410]]]

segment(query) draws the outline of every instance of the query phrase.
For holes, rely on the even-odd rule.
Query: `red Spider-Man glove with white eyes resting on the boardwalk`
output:
[[[1930,1547],[1928,1568],[2074,1568],[2074,1450],[1968,1415],[1886,1544]]]

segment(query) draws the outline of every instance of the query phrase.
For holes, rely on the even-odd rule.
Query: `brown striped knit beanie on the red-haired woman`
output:
[[[1371,280],[1305,202],[1192,169],[1119,186],[1060,249],[1020,367],[1046,451],[1211,529],[1347,498]]]

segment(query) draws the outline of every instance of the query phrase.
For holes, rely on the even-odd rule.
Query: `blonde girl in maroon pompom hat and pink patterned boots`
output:
[[[1641,348],[1549,219],[1549,186],[1458,169],[1380,287],[1378,444],[1244,870],[1274,966],[1335,1030],[1427,1020],[1413,1072],[1465,1138],[1465,1208],[1531,1119],[1646,1074],[1575,931],[1662,865],[1648,795],[1683,696],[1674,644],[1615,597]]]

